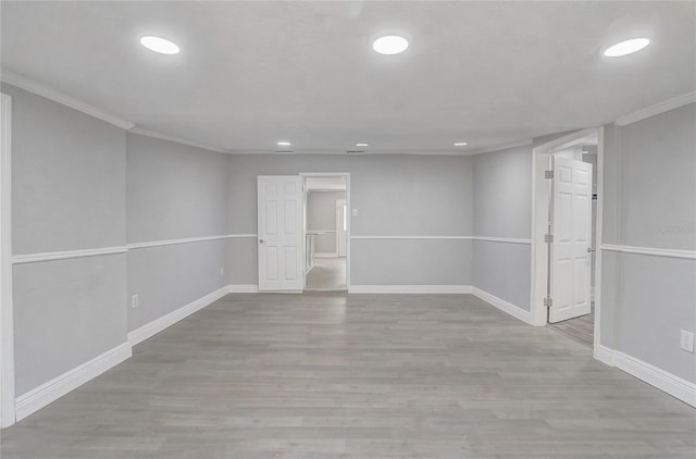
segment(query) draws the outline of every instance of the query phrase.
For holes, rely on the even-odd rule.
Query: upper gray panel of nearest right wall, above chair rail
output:
[[[696,103],[621,129],[623,244],[696,249]]]

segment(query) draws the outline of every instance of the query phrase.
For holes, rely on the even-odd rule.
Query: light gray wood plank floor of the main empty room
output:
[[[228,295],[2,458],[688,458],[696,410],[468,295]]]

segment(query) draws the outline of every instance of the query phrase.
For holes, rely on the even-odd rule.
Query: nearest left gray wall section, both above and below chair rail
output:
[[[9,85],[15,255],[124,246],[125,133]],[[16,394],[126,340],[125,255],[13,269]]]

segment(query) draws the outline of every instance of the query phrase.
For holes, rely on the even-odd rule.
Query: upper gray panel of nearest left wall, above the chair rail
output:
[[[125,243],[125,134],[9,85],[15,255]]]

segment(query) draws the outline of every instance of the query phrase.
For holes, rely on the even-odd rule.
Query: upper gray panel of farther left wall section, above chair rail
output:
[[[128,134],[128,243],[228,234],[228,156]]]

